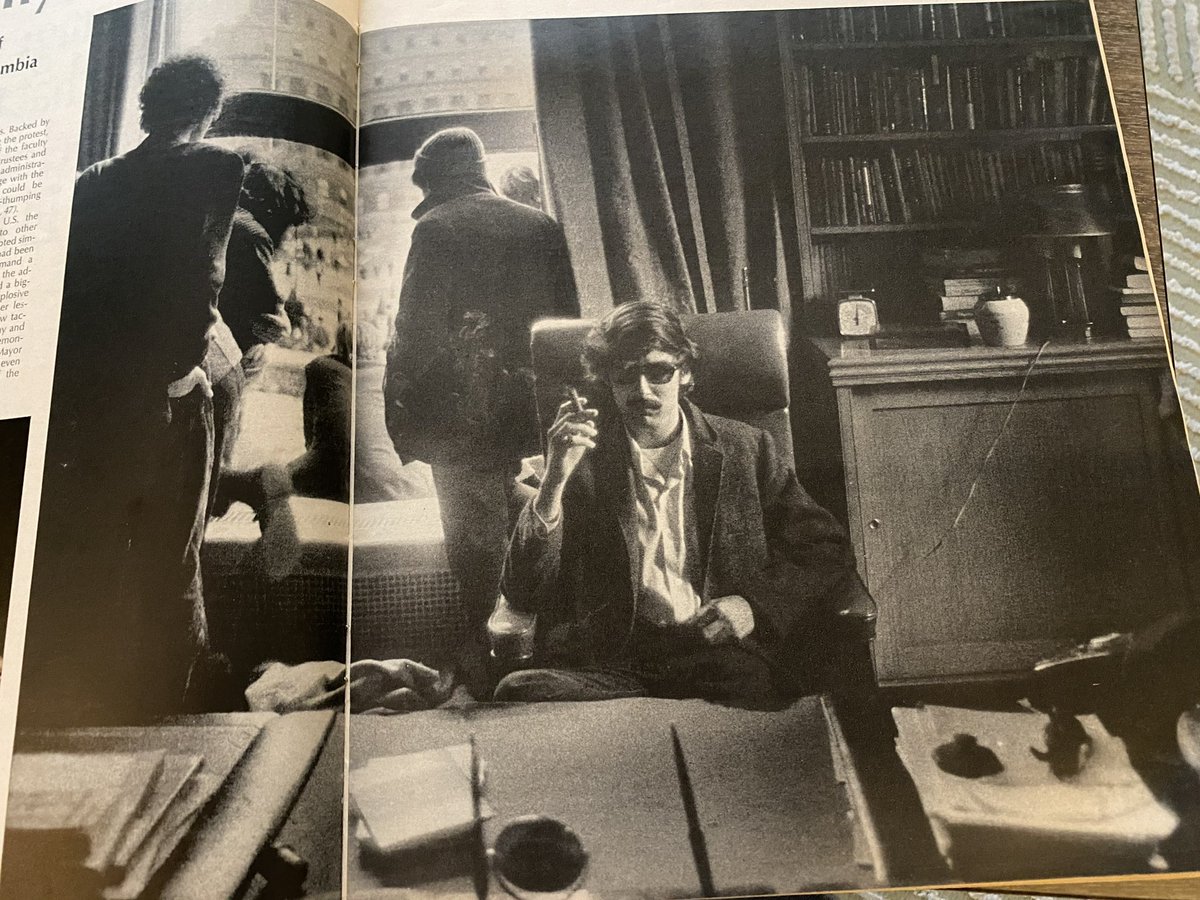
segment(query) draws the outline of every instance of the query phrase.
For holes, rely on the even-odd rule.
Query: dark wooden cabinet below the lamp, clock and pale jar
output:
[[[881,683],[1026,673],[1189,602],[1160,344],[820,346]]]

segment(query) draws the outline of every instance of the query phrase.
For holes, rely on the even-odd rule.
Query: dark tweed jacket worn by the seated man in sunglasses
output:
[[[748,640],[792,670],[797,653],[820,646],[834,605],[865,592],[850,542],[767,432],[688,401],[683,408],[692,436],[697,590],[706,602],[744,596],[755,617]],[[538,613],[546,665],[619,662],[637,620],[635,473],[616,410],[601,413],[600,432],[568,481],[562,522],[547,533],[530,502],[505,560],[504,595]]]

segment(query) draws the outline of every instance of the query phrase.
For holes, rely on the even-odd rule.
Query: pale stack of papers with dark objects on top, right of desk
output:
[[[1091,758],[1079,775],[1063,781],[1030,751],[1045,748],[1044,715],[949,707],[898,708],[892,714],[899,731],[896,750],[916,782],[938,847],[959,871],[988,868],[988,860],[980,865],[968,858],[979,847],[1004,858],[1009,874],[1033,852],[1030,848],[1042,856],[1031,865],[1043,876],[1056,871],[1055,860],[1068,858],[1122,860],[1117,865],[1140,860],[1145,869],[1158,844],[1178,826],[1175,814],[1134,770],[1124,744],[1093,715],[1079,718],[1093,742]],[[973,734],[992,750],[1003,770],[971,779],[938,768],[935,748],[960,733]],[[1092,871],[1097,866],[1099,862]]]

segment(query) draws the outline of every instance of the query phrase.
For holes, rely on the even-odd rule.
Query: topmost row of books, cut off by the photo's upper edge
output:
[[[1052,2],[914,4],[805,10],[796,14],[799,42],[919,41],[1090,35],[1092,17],[1078,0]]]

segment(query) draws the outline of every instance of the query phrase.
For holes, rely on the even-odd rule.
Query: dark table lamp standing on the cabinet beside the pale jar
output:
[[[1094,323],[1088,295],[1103,292],[1108,277],[1108,241],[1115,228],[1108,200],[1087,185],[1049,185],[1030,203],[1022,235],[1034,245],[1037,278],[1049,301],[1056,336],[1087,341]],[[1096,246],[1100,245],[1100,246]]]

